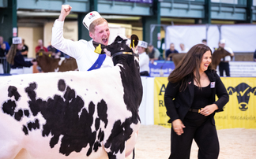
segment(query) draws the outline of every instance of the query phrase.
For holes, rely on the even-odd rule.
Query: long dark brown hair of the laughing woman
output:
[[[200,43],[193,46],[168,76],[168,81],[179,83],[179,91],[184,91],[189,82],[188,79],[192,77],[198,83],[198,87],[201,88],[199,68],[202,56],[206,51],[211,51],[212,54],[212,50],[205,44]],[[212,63],[208,66],[208,69],[213,69]],[[195,76],[194,70],[196,71]]]

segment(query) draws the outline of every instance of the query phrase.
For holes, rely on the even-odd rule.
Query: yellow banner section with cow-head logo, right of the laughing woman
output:
[[[229,102],[215,114],[216,128],[256,128],[256,78],[221,78]]]

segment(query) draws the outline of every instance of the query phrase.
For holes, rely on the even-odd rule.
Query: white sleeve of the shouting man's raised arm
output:
[[[71,57],[81,57],[80,48],[83,47],[86,50],[87,45],[82,45],[79,41],[73,42],[70,39],[65,39],[63,37],[63,25],[64,21],[55,20],[51,34],[51,45]]]

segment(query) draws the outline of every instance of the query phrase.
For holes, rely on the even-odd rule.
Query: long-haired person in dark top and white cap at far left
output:
[[[20,37],[13,38],[13,44],[6,55],[6,59],[11,65],[10,74],[23,74],[24,67],[37,65],[36,61],[24,61],[24,57],[21,54],[22,46],[22,40]]]

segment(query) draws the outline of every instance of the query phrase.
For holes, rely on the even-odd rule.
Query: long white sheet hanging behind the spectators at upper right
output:
[[[165,32],[165,46],[169,49],[170,43],[180,52],[179,44],[183,43],[186,49],[207,39],[211,49],[218,47],[220,39],[226,39],[226,46],[233,52],[254,52],[256,43],[256,24],[201,24],[201,25],[173,25],[168,26]]]

